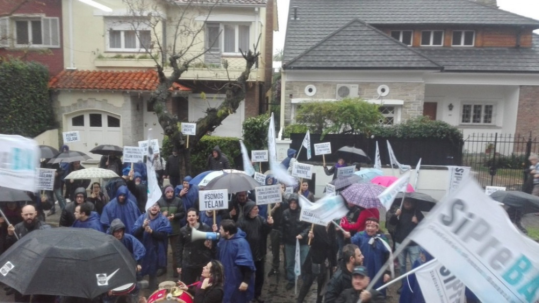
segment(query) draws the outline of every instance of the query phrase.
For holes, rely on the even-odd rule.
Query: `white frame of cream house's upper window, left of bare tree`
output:
[[[105,49],[108,52],[146,52],[146,49],[142,46],[140,41],[140,32],[149,31],[150,43],[151,43],[151,28],[148,25],[148,20],[127,20],[124,18],[106,18],[105,19]],[[122,47],[110,46],[110,31],[120,31],[120,44]],[[135,31],[135,43],[136,47],[127,48],[125,40],[126,31]],[[151,51],[151,50],[148,50]]]

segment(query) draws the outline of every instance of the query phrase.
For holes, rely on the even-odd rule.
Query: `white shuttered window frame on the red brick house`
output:
[[[17,44],[17,21],[26,21],[28,24],[28,44]],[[40,44],[32,43],[32,21],[41,22],[41,40]],[[4,26],[7,26],[4,28]],[[57,49],[60,47],[60,19],[58,17],[44,16],[12,16],[11,18],[2,18],[0,20],[0,34],[5,32],[7,37],[0,37],[0,45],[9,47],[10,44],[14,47],[32,47],[32,48],[48,48]],[[12,33],[12,37],[10,37]],[[56,36],[57,40],[54,40]],[[10,38],[12,42],[10,42]]]

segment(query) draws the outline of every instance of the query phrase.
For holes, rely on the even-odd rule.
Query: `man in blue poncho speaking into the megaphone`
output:
[[[255,267],[245,232],[231,219],[224,219],[219,233],[217,256],[226,268],[223,303],[247,303],[254,297]]]

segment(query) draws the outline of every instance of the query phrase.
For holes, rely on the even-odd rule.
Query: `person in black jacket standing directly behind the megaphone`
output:
[[[195,283],[201,277],[202,269],[212,259],[216,246],[206,237],[196,237],[195,233],[211,232],[211,227],[198,222],[198,210],[190,208],[187,211],[187,225],[179,230],[179,239],[175,253],[177,260],[176,271],[181,274],[185,285]]]

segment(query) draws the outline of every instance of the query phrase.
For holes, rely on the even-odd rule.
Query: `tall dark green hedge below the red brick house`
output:
[[[36,62],[0,61],[0,130],[34,137],[56,127],[49,97],[49,71]]]

